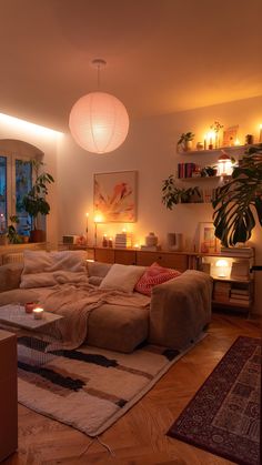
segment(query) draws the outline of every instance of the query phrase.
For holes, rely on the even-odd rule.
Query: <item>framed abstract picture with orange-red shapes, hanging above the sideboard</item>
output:
[[[94,174],[93,212],[101,223],[137,221],[137,171]]]

